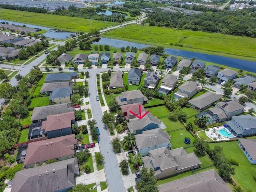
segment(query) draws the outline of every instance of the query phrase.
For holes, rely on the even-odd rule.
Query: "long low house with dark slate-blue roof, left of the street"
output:
[[[53,82],[64,82],[64,81],[71,81],[72,79],[77,79],[78,73],[71,72],[71,73],[49,73],[47,74],[44,82],[46,83],[53,83]]]

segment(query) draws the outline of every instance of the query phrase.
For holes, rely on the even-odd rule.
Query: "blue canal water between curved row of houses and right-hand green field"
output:
[[[138,49],[151,46],[151,45],[128,42],[123,40],[116,40],[111,38],[100,38],[98,42],[93,42],[93,44],[110,45],[116,48],[121,48],[121,47],[126,48],[127,46],[130,46],[130,47],[136,47]],[[184,58],[196,58],[197,60],[203,60],[203,61],[212,62],[216,64],[226,65],[229,67],[243,69],[249,72],[256,72],[256,62],[252,62],[252,61],[217,56],[217,55],[210,55],[210,54],[204,54],[204,53],[198,53],[198,52],[192,52],[192,51],[171,49],[171,48],[166,48],[164,49],[164,51],[166,54],[170,54],[174,56],[183,56]]]

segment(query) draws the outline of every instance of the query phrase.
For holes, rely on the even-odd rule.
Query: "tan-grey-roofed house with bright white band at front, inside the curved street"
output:
[[[167,74],[161,83],[160,88],[158,88],[158,92],[161,94],[168,94],[169,92],[173,91],[176,84],[177,84],[177,76],[175,75],[171,75],[171,74]]]

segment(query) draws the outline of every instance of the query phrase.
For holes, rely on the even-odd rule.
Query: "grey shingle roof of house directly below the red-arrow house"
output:
[[[170,142],[170,136],[161,128],[144,131],[135,137],[136,144],[140,149]]]

